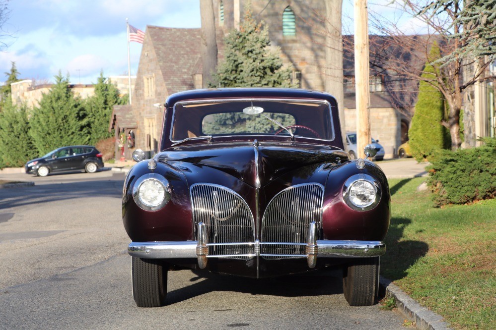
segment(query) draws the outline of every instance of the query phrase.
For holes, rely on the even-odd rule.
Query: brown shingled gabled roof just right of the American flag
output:
[[[192,74],[198,71],[195,64],[201,54],[201,29],[159,26],[146,29],[169,94],[193,89]]]

